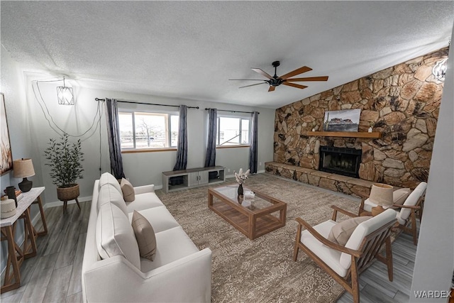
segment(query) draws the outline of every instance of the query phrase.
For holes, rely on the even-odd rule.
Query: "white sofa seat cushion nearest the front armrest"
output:
[[[155,236],[157,247],[155,258],[153,262],[145,258],[140,259],[140,270],[142,272],[160,268],[162,265],[199,251],[181,226],[155,233]]]

